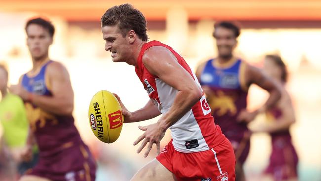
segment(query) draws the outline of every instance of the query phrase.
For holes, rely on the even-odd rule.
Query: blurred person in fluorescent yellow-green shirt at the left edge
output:
[[[0,122],[2,135],[0,136],[0,180],[15,181],[26,170],[32,168],[38,160],[37,148],[33,149],[31,158],[23,160],[28,135],[28,120],[21,98],[8,93],[8,70],[0,64]],[[1,177],[2,176],[2,177]]]

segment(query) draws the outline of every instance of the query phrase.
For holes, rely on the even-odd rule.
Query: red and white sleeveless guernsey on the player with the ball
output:
[[[198,86],[201,86],[191,68],[183,57],[176,53],[171,47],[159,41],[151,41],[142,46],[138,56],[135,71],[143,83],[148,96],[158,107],[162,114],[166,114],[171,108],[178,90],[169,86],[157,76],[152,75],[142,63],[144,52],[152,46],[162,46],[171,51],[178,63],[193,77]],[[175,79],[175,77],[173,77]],[[183,153],[206,151],[221,143],[225,136],[221,128],[214,123],[211,109],[206,102],[205,95],[202,96],[191,110],[180,120],[170,127],[174,148]]]

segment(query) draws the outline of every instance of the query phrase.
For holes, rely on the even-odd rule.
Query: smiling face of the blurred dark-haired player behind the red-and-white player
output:
[[[232,57],[233,49],[237,45],[237,40],[233,30],[218,27],[215,29],[214,37],[219,57]]]

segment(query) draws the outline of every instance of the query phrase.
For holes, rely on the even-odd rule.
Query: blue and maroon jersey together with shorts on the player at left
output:
[[[52,96],[45,73],[48,61],[35,76],[24,74],[22,86],[35,95]],[[39,161],[27,174],[52,181],[94,181],[96,165],[74,125],[72,115],[56,115],[25,102],[30,128],[39,148]]]

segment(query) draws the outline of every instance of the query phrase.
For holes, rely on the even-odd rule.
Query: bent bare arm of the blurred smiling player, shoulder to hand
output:
[[[250,122],[252,121],[258,113],[265,112],[273,107],[281,97],[282,88],[276,81],[269,78],[264,72],[260,71],[258,68],[246,65],[245,70],[245,81],[246,85],[249,87],[251,84],[256,84],[262,89],[267,90],[270,94],[268,100],[265,104],[258,110],[254,112],[248,112],[242,110],[238,116],[238,121]]]

